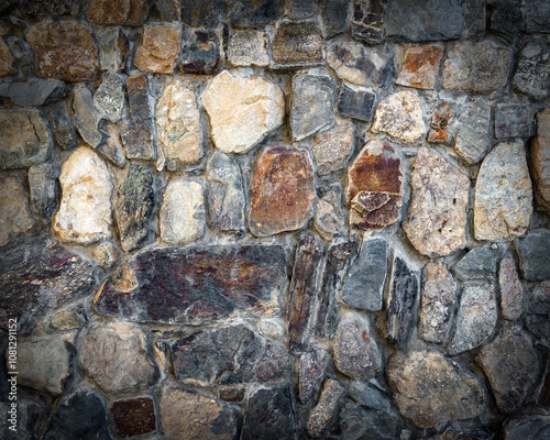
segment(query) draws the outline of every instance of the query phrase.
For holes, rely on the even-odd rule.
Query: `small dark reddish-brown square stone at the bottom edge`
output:
[[[119,437],[133,437],[156,429],[155,406],[150,397],[118,400],[111,407]]]

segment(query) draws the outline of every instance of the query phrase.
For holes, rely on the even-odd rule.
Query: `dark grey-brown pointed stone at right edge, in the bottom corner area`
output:
[[[502,413],[519,408],[539,377],[539,361],[531,344],[508,327],[481,349],[477,362],[485,372]]]

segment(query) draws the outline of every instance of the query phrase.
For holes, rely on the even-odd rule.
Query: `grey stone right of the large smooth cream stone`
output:
[[[334,122],[337,85],[329,76],[298,74],[293,78],[290,131],[300,141]]]

